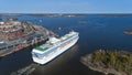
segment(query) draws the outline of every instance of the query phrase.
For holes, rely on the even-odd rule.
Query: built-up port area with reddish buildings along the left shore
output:
[[[29,46],[35,46],[48,40],[54,32],[31,22],[20,22],[15,19],[0,21],[0,57],[18,52]]]

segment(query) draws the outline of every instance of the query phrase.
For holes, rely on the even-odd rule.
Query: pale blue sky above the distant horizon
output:
[[[132,0],[0,0],[0,13],[132,13]]]

